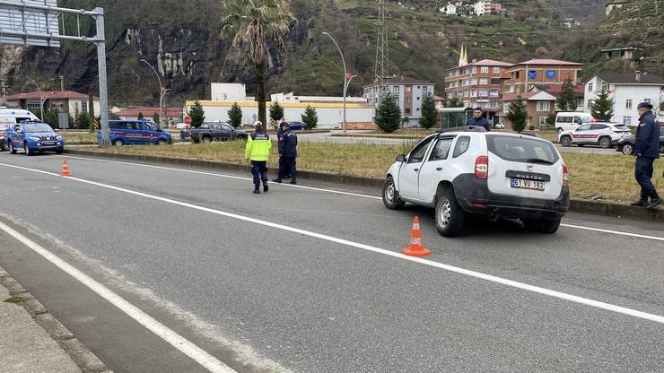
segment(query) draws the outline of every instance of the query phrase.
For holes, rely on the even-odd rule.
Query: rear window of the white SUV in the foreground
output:
[[[560,159],[552,143],[529,136],[515,137],[487,134],[486,144],[489,152],[503,160],[554,164]]]

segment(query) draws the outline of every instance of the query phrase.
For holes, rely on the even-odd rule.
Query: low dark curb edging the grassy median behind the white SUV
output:
[[[247,165],[237,163],[224,163],[214,160],[188,160],[184,158],[158,157],[153,155],[136,155],[120,153],[102,153],[66,150],[68,154],[83,155],[96,158],[109,158],[118,160],[136,160],[155,164],[172,164],[178,166],[189,166],[205,169],[223,169],[229,171],[249,172]],[[298,171],[298,178],[328,181],[338,184],[348,184],[353,186],[371,186],[382,187],[383,180],[380,178],[363,178],[356,176],[345,176],[338,174],[328,174],[323,172]],[[618,218],[633,218],[644,221],[664,222],[664,210],[647,210],[641,207],[633,207],[625,204],[608,204],[596,201],[585,201],[581,199],[572,199],[570,201],[570,211],[574,213],[590,213],[593,215],[604,215]]]

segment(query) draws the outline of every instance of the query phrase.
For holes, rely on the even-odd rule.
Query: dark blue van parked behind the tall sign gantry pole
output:
[[[97,131],[98,143],[100,137]],[[168,131],[149,120],[109,120],[109,137],[115,146],[173,143]]]

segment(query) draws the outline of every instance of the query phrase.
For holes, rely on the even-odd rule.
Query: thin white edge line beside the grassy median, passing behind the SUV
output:
[[[63,157],[63,156],[60,156]],[[206,175],[206,176],[214,176],[218,178],[234,178],[238,180],[251,180],[251,178],[241,178],[238,176],[232,176],[232,175],[225,175],[225,174],[220,174],[220,173],[215,173],[215,172],[204,172],[204,171],[196,171],[193,169],[177,169],[177,168],[172,168],[172,167],[163,167],[163,166],[153,166],[149,164],[142,164],[142,163],[133,163],[133,162],[123,162],[119,160],[100,160],[96,158],[86,158],[86,157],[66,157],[66,158],[71,158],[75,160],[92,160],[92,161],[98,161],[98,162],[107,162],[107,163],[118,163],[118,164],[124,164],[124,165],[129,165],[129,166],[137,166],[137,167],[146,167],[150,169],[166,169],[170,171],[179,171],[179,172],[187,172],[187,173],[193,173],[193,174],[198,174],[198,175]],[[309,189],[309,190],[315,190],[318,192],[326,192],[326,193],[335,193],[338,195],[353,195],[356,197],[363,197],[363,198],[371,198],[371,199],[380,199],[382,200],[381,197],[377,197],[374,195],[361,195],[358,193],[350,193],[350,192],[342,192],[340,190],[334,190],[334,189],[324,189],[324,188],[319,188],[319,187],[313,187],[313,186],[293,186],[291,184],[284,184],[284,186],[291,186],[291,187],[299,187],[301,189]],[[573,224],[560,224],[561,227],[565,228],[572,228],[576,230],[591,230],[591,231],[596,231],[599,233],[609,233],[609,234],[615,234],[618,236],[625,236],[625,237],[633,237],[633,238],[638,238],[638,239],[653,239],[656,241],[664,241],[664,237],[658,237],[658,236],[648,236],[648,235],[643,235],[643,234],[637,234],[637,233],[630,233],[630,232],[625,232],[621,230],[602,230],[598,228],[591,228],[591,227],[584,227],[581,225],[573,225]]]

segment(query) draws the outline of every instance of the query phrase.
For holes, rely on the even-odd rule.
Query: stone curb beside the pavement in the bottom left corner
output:
[[[97,356],[88,350],[59,321],[53,317],[44,305],[35,299],[32,294],[25,290],[22,285],[13,279],[9,273],[0,267],[0,285],[3,285],[13,297],[21,299],[19,304],[25,308],[30,316],[43,327],[57,344],[69,355],[74,363],[83,371],[83,373],[112,373],[112,371]]]

